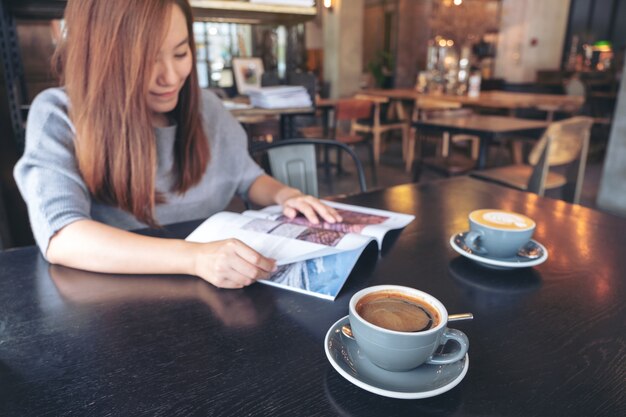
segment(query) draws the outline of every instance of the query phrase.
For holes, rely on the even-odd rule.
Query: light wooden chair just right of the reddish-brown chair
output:
[[[374,163],[380,162],[380,154],[382,149],[382,135],[393,130],[399,130],[402,133],[402,150],[408,148],[409,143],[409,124],[406,120],[383,120],[381,114],[381,105],[388,103],[386,97],[372,96],[367,94],[357,94],[354,96],[357,100],[369,101],[373,103],[374,114],[369,121],[355,120],[352,126],[354,132],[370,133],[374,142]],[[406,160],[407,154],[403,152],[402,158]]]

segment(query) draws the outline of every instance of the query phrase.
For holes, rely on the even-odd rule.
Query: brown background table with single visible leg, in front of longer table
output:
[[[418,134],[425,131],[435,131],[448,132],[451,135],[466,133],[478,136],[480,138],[478,161],[476,162],[478,169],[484,169],[487,166],[489,144],[494,140],[513,134],[539,136],[548,127],[548,124],[542,120],[482,114],[464,117],[439,117],[413,122]]]

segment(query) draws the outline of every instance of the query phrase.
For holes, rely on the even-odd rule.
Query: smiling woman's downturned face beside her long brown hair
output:
[[[191,73],[192,65],[187,21],[180,8],[173,6],[169,29],[159,50],[148,88],[148,108],[155,126],[169,124],[165,113],[176,107],[178,93]]]

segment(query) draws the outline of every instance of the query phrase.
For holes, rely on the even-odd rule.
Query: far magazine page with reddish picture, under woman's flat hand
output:
[[[415,219],[415,216],[410,214],[335,203],[333,201],[323,201],[324,204],[334,207],[339,214],[341,214],[343,218],[341,223],[327,223],[322,221],[319,224],[313,224],[304,216],[289,219],[282,214],[281,206],[270,206],[258,211],[248,210],[243,214],[250,217],[254,216],[292,224],[301,224],[310,228],[371,236],[378,242],[379,249],[382,247],[383,238],[388,231],[403,228]]]

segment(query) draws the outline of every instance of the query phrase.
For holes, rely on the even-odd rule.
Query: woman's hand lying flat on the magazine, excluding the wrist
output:
[[[302,194],[295,188],[285,187],[280,190],[276,195],[276,202],[283,206],[283,214],[290,219],[302,213],[313,224],[319,223],[318,216],[328,223],[342,220],[334,208],[311,195]]]

